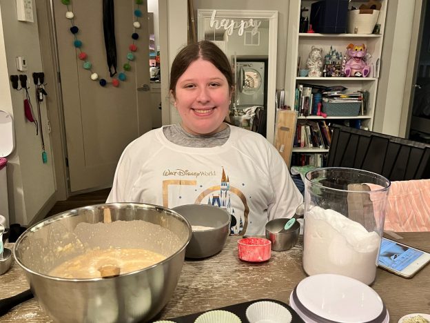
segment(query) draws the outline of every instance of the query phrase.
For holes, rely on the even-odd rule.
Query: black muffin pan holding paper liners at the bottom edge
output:
[[[247,310],[248,306],[251,304],[254,304],[256,302],[261,302],[261,301],[274,302],[274,303],[278,303],[278,304],[286,307],[288,309],[289,313],[291,313],[291,317],[293,318],[291,320],[291,323],[305,323],[305,321],[303,321],[300,318],[300,316],[298,316],[296,311],[294,311],[294,309],[291,309],[291,306],[289,306],[288,304],[285,304],[284,302],[280,302],[278,300],[270,300],[267,298],[263,298],[261,300],[253,300],[250,302],[234,304],[234,305],[229,305],[229,306],[224,306],[224,307],[220,307],[218,309],[213,309],[211,311],[215,311],[215,310],[229,311],[229,312],[232,312],[232,313],[238,315],[240,320],[242,320],[242,323],[249,323],[249,321],[247,320],[247,317],[246,317],[246,310]],[[205,312],[208,312],[208,311],[203,311],[203,312],[179,316],[179,317],[172,317],[172,318],[168,318],[168,319],[164,319],[164,320],[169,320],[169,321],[173,321],[176,323],[194,323],[196,318]]]

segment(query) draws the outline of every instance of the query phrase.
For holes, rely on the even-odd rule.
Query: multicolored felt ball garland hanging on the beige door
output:
[[[63,5],[65,5],[67,7],[67,11],[65,12],[65,17],[67,19],[69,19],[72,23],[72,27],[70,27],[70,32],[72,33],[72,35],[74,37],[73,46],[79,52],[78,58],[81,61],[83,61],[82,67],[85,70],[89,70],[90,71],[90,78],[93,81],[96,81],[99,79],[99,74],[92,71],[92,69],[91,69],[92,63],[90,61],[88,61],[88,54],[81,50],[81,48],[85,47],[85,45],[77,37],[77,34],[79,32],[79,28],[78,28],[78,26],[74,25],[74,13],[72,11],[72,8],[70,8],[70,6],[72,5],[72,0],[61,0],[61,3],[63,3]],[[137,39],[139,39],[139,34],[136,32],[136,29],[141,28],[141,23],[139,21],[139,18],[142,17],[143,13],[140,10],[139,6],[141,4],[143,4],[143,0],[135,0],[135,3],[137,5],[137,8],[133,10],[133,13],[134,13],[134,19],[133,19],[134,20],[133,21],[133,29],[134,30],[133,31],[134,32],[132,33],[132,43],[130,44],[130,46],[128,46],[128,49],[130,50],[130,52],[127,52],[127,55],[126,55],[127,63],[123,64],[123,72],[119,72],[118,77],[112,78],[112,81],[108,82],[103,78],[99,79],[99,84],[102,87],[105,87],[107,84],[112,84],[112,86],[114,86],[115,88],[119,87],[120,81],[125,81],[127,79],[127,75],[125,72],[129,72],[132,69],[132,66],[130,65],[129,62],[134,61],[134,59],[136,58],[134,55],[134,52],[136,52],[136,50],[137,50],[137,46],[136,46],[135,41]]]

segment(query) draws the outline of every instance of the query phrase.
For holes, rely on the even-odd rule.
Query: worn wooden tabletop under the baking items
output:
[[[430,252],[430,233],[400,233],[400,240]],[[260,298],[289,304],[294,286],[306,277],[302,268],[302,244],[289,251],[272,251],[263,264],[241,262],[237,240],[229,237],[223,251],[207,260],[186,261],[170,302],[157,318],[166,319]],[[9,248],[12,244],[7,245]],[[0,298],[28,289],[22,269],[13,262],[8,273],[0,276]],[[385,302],[390,322],[408,313],[430,313],[430,265],[410,280],[378,269],[372,288]],[[52,322],[36,300],[20,304],[1,322]]]

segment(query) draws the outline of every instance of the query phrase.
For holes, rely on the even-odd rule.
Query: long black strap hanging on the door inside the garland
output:
[[[107,67],[110,77],[113,77],[116,74],[114,0],[103,0],[103,32],[105,34]],[[112,68],[114,72],[112,72]]]

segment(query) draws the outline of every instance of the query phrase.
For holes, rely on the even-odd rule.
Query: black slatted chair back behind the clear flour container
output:
[[[334,124],[327,167],[369,170],[390,181],[430,178],[430,145]]]

